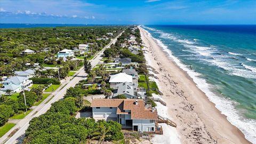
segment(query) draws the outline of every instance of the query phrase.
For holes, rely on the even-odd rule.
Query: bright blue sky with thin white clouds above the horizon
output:
[[[256,24],[256,1],[0,0],[1,23]]]

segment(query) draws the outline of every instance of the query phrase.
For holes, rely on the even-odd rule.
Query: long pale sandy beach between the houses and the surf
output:
[[[181,143],[250,143],[187,75],[163,51],[155,39],[139,27],[146,47],[147,64],[159,74],[157,84],[167,103],[168,118],[177,123]],[[164,131],[168,133],[168,131]]]

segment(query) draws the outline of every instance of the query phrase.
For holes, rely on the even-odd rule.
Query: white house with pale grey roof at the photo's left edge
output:
[[[11,93],[21,92],[22,89],[27,89],[32,86],[33,82],[28,77],[14,76],[6,79],[3,84],[4,88],[2,88],[1,91],[6,94],[7,90],[11,90]]]

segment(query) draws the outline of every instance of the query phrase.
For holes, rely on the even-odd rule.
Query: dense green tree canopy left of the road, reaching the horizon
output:
[[[57,28],[19,28],[0,29],[0,75],[13,75],[14,70],[26,70],[33,67],[34,63],[44,63],[53,66],[63,66],[61,77],[67,76],[67,70],[76,69],[83,64],[79,61],[57,60],[55,54],[63,49],[72,49],[79,44],[92,43],[91,53],[102,49],[109,43],[109,39],[97,39],[105,37],[106,33],[118,34],[122,26],[95,26],[95,27],[57,27]],[[109,37],[109,36],[108,36]],[[25,49],[34,50],[35,54],[23,54]],[[75,62],[78,62],[75,64]],[[30,63],[30,66],[26,65]],[[67,68],[69,67],[69,68]],[[53,73],[44,71],[38,75]],[[50,74],[55,76],[56,73]]]

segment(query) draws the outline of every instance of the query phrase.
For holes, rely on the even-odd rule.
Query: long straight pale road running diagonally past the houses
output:
[[[117,38],[121,34],[119,34],[116,38],[114,38],[108,45],[106,45],[104,47],[104,49],[102,49],[97,55],[95,55],[94,59],[91,60],[92,67],[95,67],[100,62],[100,60],[102,59],[101,55],[103,54],[105,49],[107,49],[111,44],[114,44],[116,42]],[[66,90],[69,89],[69,87],[75,86],[79,81],[81,81],[86,76],[87,76],[87,74],[84,72],[84,69],[82,67],[81,69],[79,69],[77,71],[77,73],[75,74],[73,79],[70,79],[70,81],[63,83],[59,87],[59,89],[57,89],[55,92],[53,92],[51,95],[49,95],[49,97],[47,99],[45,99],[40,105],[35,107],[25,118],[21,119],[21,121],[19,121],[14,127],[12,127],[12,129],[9,132],[7,132],[5,135],[3,135],[3,137],[0,138],[0,143],[10,143],[10,144],[22,143],[22,140],[25,137],[25,131],[27,130],[27,128],[29,126],[29,121],[34,117],[38,117],[38,116],[44,114],[48,109],[50,109],[51,104],[53,102],[58,101],[63,98],[63,96],[66,93]],[[48,100],[50,100],[50,101],[47,102]],[[47,102],[47,103],[45,103],[45,102]],[[18,129],[18,131],[11,138],[8,137],[8,135],[15,129]]]

